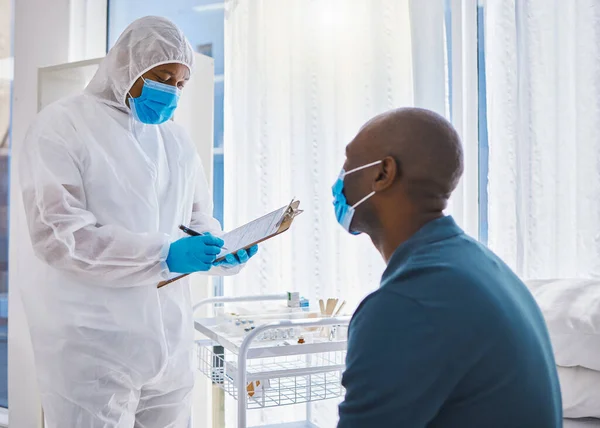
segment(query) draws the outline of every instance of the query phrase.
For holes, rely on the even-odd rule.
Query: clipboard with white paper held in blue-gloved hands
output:
[[[228,254],[235,254],[239,250],[247,250],[253,245],[260,244],[273,236],[285,232],[292,225],[294,218],[302,213],[302,210],[298,209],[299,206],[300,201],[293,199],[289,205],[220,236],[225,241],[225,245],[223,246],[224,249],[217,256],[216,261],[219,262]],[[163,281],[157,287],[164,287],[185,276],[187,275],[180,275],[168,281]]]

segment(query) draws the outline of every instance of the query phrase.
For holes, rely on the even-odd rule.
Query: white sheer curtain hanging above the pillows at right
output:
[[[485,4],[489,244],[527,278],[600,274],[600,2]]]

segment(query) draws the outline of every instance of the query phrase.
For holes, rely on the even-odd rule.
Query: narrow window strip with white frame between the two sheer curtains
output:
[[[465,171],[453,194],[459,209],[450,214],[471,236],[487,245],[488,142],[485,96],[483,0],[444,0],[447,59],[447,113],[462,136]],[[460,206],[462,205],[462,206]]]

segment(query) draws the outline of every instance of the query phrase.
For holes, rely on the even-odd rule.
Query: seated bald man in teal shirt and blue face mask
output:
[[[387,269],[350,323],[338,427],[562,427],[538,306],[443,214],[463,172],[452,126],[420,109],[378,116],[348,145],[344,171],[338,221],[368,234]]]

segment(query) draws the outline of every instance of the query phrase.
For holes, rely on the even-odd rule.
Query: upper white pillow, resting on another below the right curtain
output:
[[[546,319],[556,364],[600,371],[600,280],[528,281],[527,286]]]

